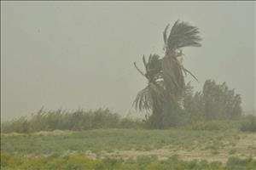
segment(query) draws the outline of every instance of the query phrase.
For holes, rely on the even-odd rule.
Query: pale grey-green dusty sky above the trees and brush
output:
[[[184,48],[199,79],[227,82],[245,111],[255,105],[254,2],[2,2],[2,121],[45,109],[108,107],[126,115],[146,79],[145,54],[164,54],[162,31],[198,26],[201,48]],[[187,79],[190,80],[189,78]]]

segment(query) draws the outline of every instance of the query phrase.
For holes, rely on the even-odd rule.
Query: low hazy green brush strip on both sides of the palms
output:
[[[191,108],[194,108],[194,106],[191,106]],[[192,130],[240,129],[242,132],[255,132],[255,119],[255,116],[240,116],[236,120],[207,120],[206,116],[199,116],[184,110],[178,116],[177,123],[179,124],[178,128],[189,128]],[[147,129],[151,127],[148,126],[147,121],[120,117],[108,109],[96,111],[79,110],[74,112],[61,110],[44,111],[41,109],[37,114],[30,117],[20,117],[10,122],[1,123],[2,133],[34,133],[54,130],[82,131],[102,128]]]

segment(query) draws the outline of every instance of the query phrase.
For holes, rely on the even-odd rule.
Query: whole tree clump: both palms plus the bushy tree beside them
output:
[[[146,124],[151,128],[177,127],[204,120],[234,120],[241,116],[241,96],[226,83],[207,80],[202,92],[194,94],[184,76],[197,78],[183,66],[183,48],[201,47],[199,29],[177,20],[167,34],[163,32],[165,55],[143,56],[145,71],[134,65],[148,85],[134,101],[139,111],[148,111]],[[255,124],[255,123],[254,123]],[[246,128],[246,127],[245,127]],[[243,129],[243,128],[242,128]]]

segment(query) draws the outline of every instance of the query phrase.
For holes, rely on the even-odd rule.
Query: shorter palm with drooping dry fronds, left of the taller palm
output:
[[[135,107],[139,110],[152,111],[152,114],[146,117],[148,127],[158,128],[161,126],[162,107],[165,98],[165,89],[161,72],[161,59],[157,54],[149,55],[148,62],[143,56],[143,64],[146,73],[140,71],[134,63],[137,71],[139,71],[148,80],[148,86],[143,88],[134,100]]]

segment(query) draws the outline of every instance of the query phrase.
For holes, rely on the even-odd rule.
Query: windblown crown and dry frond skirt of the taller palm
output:
[[[198,36],[199,30],[195,26],[189,26],[188,23],[177,20],[172,26],[172,30],[167,37],[168,26],[166,26],[164,35],[166,54],[162,59],[162,69],[167,93],[172,98],[177,99],[183,93],[185,88],[184,74],[189,73],[196,77],[182,65],[178,60],[182,57],[182,48],[201,47],[201,37]]]

